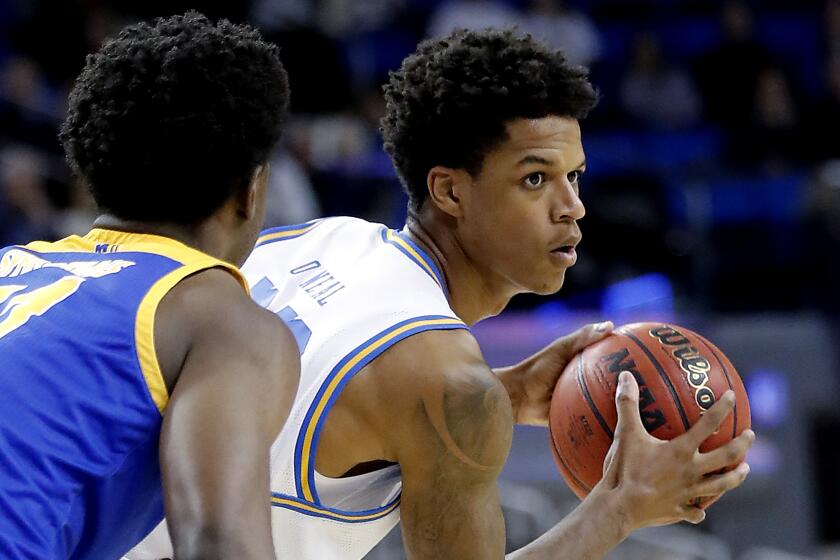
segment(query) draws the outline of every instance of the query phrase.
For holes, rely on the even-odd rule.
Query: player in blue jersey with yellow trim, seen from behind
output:
[[[236,265],[287,100],[275,46],[194,12],[88,57],[61,138],[101,215],[0,250],[0,558],[119,558],[164,506],[179,559],[273,555],[298,351]]]

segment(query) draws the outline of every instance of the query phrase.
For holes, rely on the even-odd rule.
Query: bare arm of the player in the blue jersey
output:
[[[297,387],[293,338],[221,270],[176,286],[155,335],[174,382],[160,459],[176,557],[273,558],[268,456]]]

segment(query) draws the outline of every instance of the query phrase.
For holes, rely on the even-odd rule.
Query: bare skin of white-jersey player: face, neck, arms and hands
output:
[[[443,271],[450,305],[465,323],[496,315],[517,293],[562,287],[575,259],[569,248],[580,241],[584,170],[577,121],[546,117],[510,122],[507,139],[486,154],[476,176],[440,166],[429,171],[429,199],[409,217],[407,231]],[[610,330],[584,327],[495,372],[467,331],[409,337],[342,392],[321,434],[316,469],[340,477],[399,463],[409,558],[503,558],[496,479],[513,424],[546,425],[563,367]],[[698,452],[731,412],[731,394],[687,434],[661,442],[641,428],[638,387],[626,377],[604,479],[566,519],[509,558],[601,558],[637,528],[701,521],[703,510],[685,504],[743,481],[745,465],[705,475],[741,461],[751,431]]]

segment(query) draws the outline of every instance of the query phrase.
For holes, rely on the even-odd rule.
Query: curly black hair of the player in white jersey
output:
[[[475,175],[484,155],[517,118],[583,119],[598,95],[587,71],[571,66],[529,35],[513,30],[457,30],[429,39],[384,86],[385,151],[419,210],[436,165]]]

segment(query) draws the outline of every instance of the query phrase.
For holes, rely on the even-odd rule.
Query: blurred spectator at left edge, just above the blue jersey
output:
[[[0,246],[55,238],[44,158],[25,147],[0,153]]]

